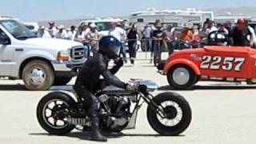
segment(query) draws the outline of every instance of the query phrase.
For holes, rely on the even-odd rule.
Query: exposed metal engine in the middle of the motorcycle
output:
[[[106,128],[111,131],[120,131],[124,129],[130,118],[130,104],[131,100],[129,97],[122,96],[111,96],[102,95],[99,97],[99,100],[102,102],[102,105],[105,106],[105,109],[108,110],[110,117],[105,119]]]

